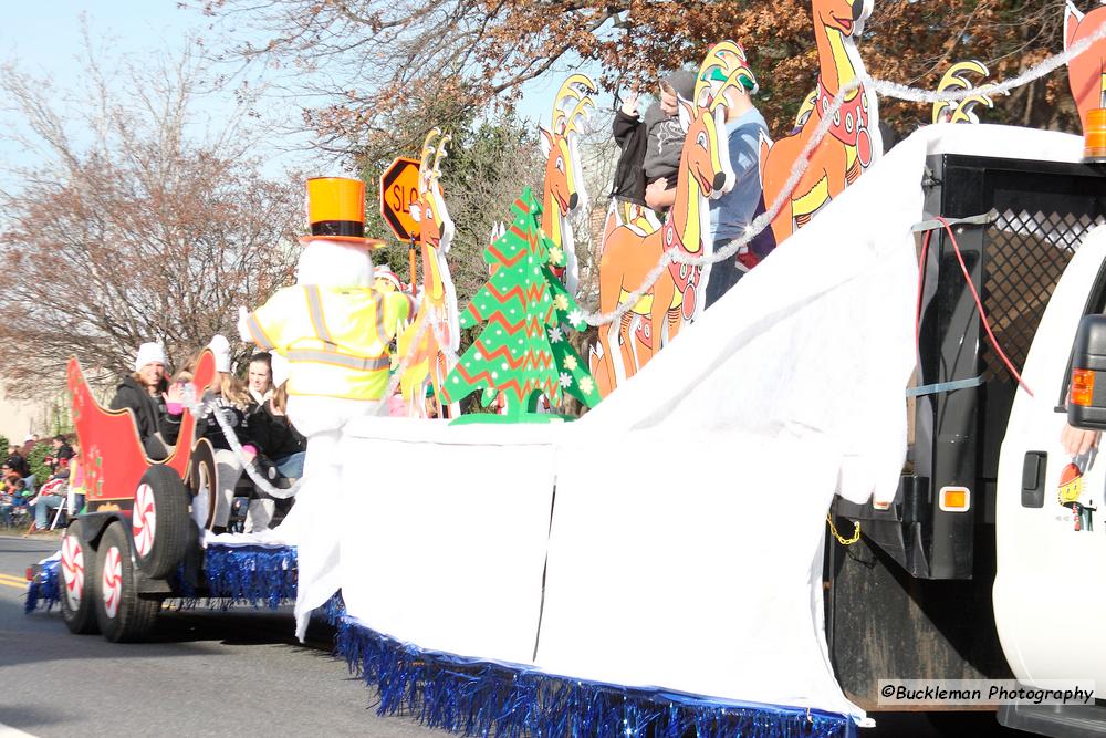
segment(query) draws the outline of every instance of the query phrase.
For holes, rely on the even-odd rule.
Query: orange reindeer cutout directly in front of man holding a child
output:
[[[604,314],[614,311],[632,292],[646,287],[646,278],[666,251],[711,253],[707,200],[729,191],[734,177],[726,139],[722,93],[728,86],[740,84],[741,69],[735,69],[732,56],[724,53],[728,46],[735,44],[729,41],[716,44],[700,66],[700,76],[716,69],[722,71],[724,82],[713,97],[700,101],[702,104],[679,100],[680,123],[687,134],[676,180],[676,201],[660,230],[646,233],[633,224],[618,225],[614,210],[607,215],[599,259],[599,309]],[[666,339],[674,339],[684,320],[697,314],[708,271],[669,264],[620,321],[599,328],[599,347],[593,353],[592,366],[604,396],[653,358]],[[641,341],[630,337],[636,320],[644,322],[638,333]]]

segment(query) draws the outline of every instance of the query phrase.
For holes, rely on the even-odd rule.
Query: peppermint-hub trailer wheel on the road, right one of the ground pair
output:
[[[112,643],[138,641],[154,626],[161,603],[138,596],[131,541],[123,523],[116,521],[107,527],[96,553],[100,596],[95,602],[100,632]]]

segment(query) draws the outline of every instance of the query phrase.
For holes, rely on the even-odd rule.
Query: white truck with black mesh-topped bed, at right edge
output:
[[[826,625],[865,709],[880,678],[1093,678],[1097,705],[1004,706],[1003,725],[1106,735],[1106,460],[1061,446],[1081,319],[1106,309],[1106,169],[966,155],[927,162],[911,446],[887,509],[837,500]],[[959,221],[959,222],[958,222]],[[920,249],[919,249],[920,250]],[[832,541],[832,539],[831,539]],[[878,716],[877,720],[878,720]]]

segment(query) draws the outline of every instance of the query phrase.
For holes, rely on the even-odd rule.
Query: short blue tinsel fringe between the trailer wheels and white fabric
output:
[[[209,596],[269,609],[295,602],[295,562],[291,547],[209,545],[204,561]]]

